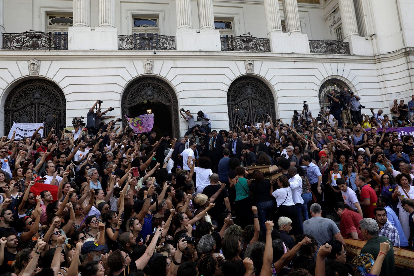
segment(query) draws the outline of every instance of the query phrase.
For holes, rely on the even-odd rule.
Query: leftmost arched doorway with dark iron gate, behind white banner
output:
[[[29,79],[18,84],[7,96],[4,110],[5,133],[13,122],[45,122],[48,130],[66,124],[65,94],[46,79]]]

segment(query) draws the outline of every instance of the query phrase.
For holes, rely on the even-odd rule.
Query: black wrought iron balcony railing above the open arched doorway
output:
[[[119,50],[176,50],[175,36],[159,34],[120,34]]]

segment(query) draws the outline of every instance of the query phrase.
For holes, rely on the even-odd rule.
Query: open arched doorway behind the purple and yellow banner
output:
[[[154,113],[153,130],[157,137],[164,132],[173,137],[180,135],[178,100],[170,85],[155,77],[143,77],[129,84],[122,96],[122,114],[135,117],[145,114],[147,107]]]

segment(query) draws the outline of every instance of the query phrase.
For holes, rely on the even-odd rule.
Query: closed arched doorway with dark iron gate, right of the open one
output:
[[[260,79],[241,77],[236,79],[227,92],[229,128],[241,126],[241,122],[262,122],[262,115],[275,118],[272,91]]]

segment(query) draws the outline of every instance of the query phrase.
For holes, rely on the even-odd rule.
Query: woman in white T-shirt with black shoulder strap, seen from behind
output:
[[[279,188],[274,192],[272,185],[270,185],[270,194],[276,199],[277,203],[277,211],[274,220],[278,221],[281,216],[290,218],[292,220],[292,230],[289,232],[289,235],[298,235],[301,233],[301,226],[296,206],[293,203],[292,189],[289,187],[289,180],[286,176],[281,175],[276,181]]]

